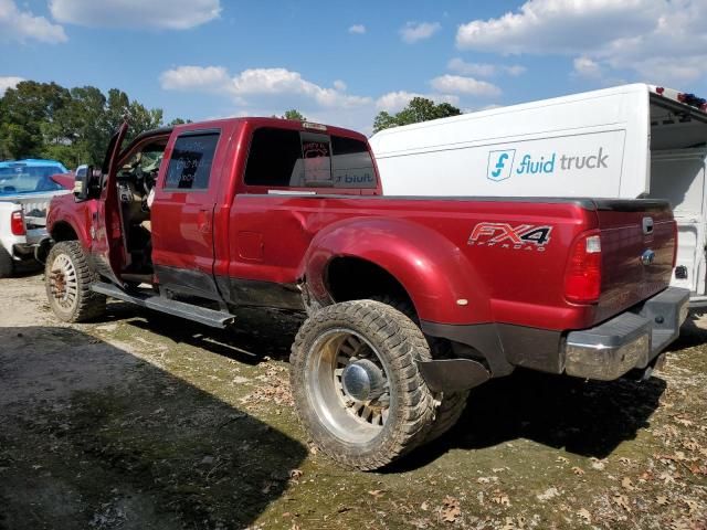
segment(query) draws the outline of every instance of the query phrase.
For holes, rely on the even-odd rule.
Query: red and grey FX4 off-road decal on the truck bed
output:
[[[552,232],[552,226],[478,223],[474,226],[467,243],[475,246],[499,246],[516,251],[545,252],[545,245],[550,241],[550,232]]]

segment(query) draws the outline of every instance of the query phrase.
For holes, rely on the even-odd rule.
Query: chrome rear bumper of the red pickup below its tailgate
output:
[[[600,326],[571,331],[564,344],[566,373],[610,381],[646,368],[677,338],[688,306],[689,290],[669,287]]]

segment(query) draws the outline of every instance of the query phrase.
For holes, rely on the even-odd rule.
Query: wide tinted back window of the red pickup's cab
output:
[[[244,182],[268,189],[377,189],[368,145],[356,138],[262,127],[253,132]]]

